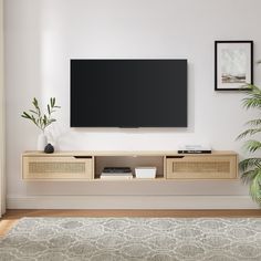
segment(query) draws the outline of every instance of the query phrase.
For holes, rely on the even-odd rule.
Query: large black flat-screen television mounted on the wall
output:
[[[187,127],[187,60],[71,60],[71,127]]]

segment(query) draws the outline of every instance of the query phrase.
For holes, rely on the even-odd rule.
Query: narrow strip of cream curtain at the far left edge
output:
[[[0,216],[6,209],[4,189],[4,98],[3,98],[3,0],[0,0]]]

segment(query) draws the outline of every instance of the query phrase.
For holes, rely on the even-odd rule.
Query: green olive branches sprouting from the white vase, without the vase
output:
[[[38,100],[34,97],[32,100],[33,109],[29,109],[29,112],[23,112],[21,117],[31,121],[44,133],[44,129],[49,125],[56,122],[56,119],[52,117],[52,114],[55,112],[56,108],[61,108],[61,106],[58,106],[55,103],[55,97],[51,97],[50,103],[46,106],[48,113],[43,113],[39,106]]]

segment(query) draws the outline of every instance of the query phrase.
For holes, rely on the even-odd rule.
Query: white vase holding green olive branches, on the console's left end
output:
[[[50,104],[48,104],[48,113],[43,114],[35,97],[33,98],[32,104],[34,108],[29,109],[29,112],[23,112],[21,116],[23,118],[30,119],[33,124],[36,125],[38,128],[42,130],[42,133],[38,137],[38,150],[43,152],[48,144],[48,138],[44,134],[44,130],[52,123],[56,122],[56,119],[52,117],[52,114],[55,112],[55,108],[60,108],[60,106],[55,105],[55,97],[51,97]]]

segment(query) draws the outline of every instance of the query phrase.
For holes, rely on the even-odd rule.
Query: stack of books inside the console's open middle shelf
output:
[[[101,179],[132,179],[133,173],[129,167],[105,167]]]

